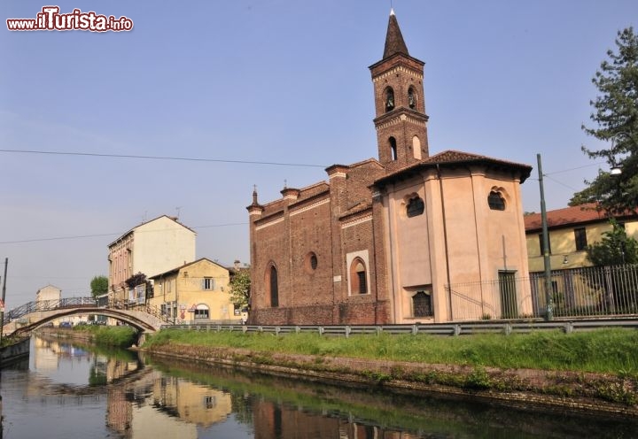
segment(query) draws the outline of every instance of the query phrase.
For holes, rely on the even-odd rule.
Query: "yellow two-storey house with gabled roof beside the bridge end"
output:
[[[148,303],[173,318],[175,323],[241,321],[241,314],[230,302],[229,269],[207,258],[150,279],[153,296]]]

